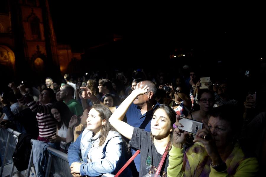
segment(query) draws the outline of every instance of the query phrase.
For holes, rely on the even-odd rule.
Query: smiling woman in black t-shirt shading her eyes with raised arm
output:
[[[157,173],[161,176],[167,176],[166,168],[168,166],[168,157],[163,161],[163,169],[159,169],[159,163],[163,154],[167,154],[171,148],[173,137],[172,124],[176,121],[175,111],[167,105],[160,105],[153,113],[150,123],[151,132],[146,132],[137,127],[132,127],[122,121],[124,115],[134,101],[134,104],[144,100],[146,93],[149,93],[149,87],[142,87],[142,82],[137,84],[136,89],[120,104],[112,114],[109,122],[123,136],[130,140],[130,147],[140,150],[140,173],[139,176],[145,176],[147,173]]]

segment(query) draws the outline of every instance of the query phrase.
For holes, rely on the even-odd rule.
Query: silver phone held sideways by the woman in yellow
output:
[[[184,127],[178,127],[178,129],[188,132],[192,135],[196,135],[198,130],[201,130],[203,127],[202,122],[192,120],[192,119],[187,119],[185,117],[181,117],[181,118],[182,119],[179,120],[179,123],[181,123]]]

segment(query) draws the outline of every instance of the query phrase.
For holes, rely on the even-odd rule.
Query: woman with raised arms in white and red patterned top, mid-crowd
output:
[[[185,115],[189,113],[191,109],[191,99],[186,94],[182,93],[181,86],[176,86],[174,89],[173,101],[169,104],[175,112],[179,115]]]

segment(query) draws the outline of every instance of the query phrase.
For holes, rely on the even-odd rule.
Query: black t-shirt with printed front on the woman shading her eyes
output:
[[[159,154],[150,137],[150,132],[146,132],[140,128],[134,127],[133,135],[129,146],[140,150],[140,173],[139,176],[143,177],[147,173],[156,173],[157,167],[163,155]],[[160,175],[167,176],[167,167],[169,154],[167,154],[166,162],[162,166]]]

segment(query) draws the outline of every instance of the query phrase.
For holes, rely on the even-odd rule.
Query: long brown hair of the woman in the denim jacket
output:
[[[110,124],[109,122],[109,118],[112,115],[112,112],[105,106],[102,106],[100,104],[93,104],[93,106],[91,107],[91,109],[95,109],[95,111],[97,111],[99,113],[99,117],[104,120],[105,119],[105,124],[102,127],[102,130],[100,132],[100,142],[99,142],[99,146],[102,146],[103,143],[106,140],[106,137],[109,133],[109,131],[113,130],[115,131],[115,129],[113,128],[113,126]]]

